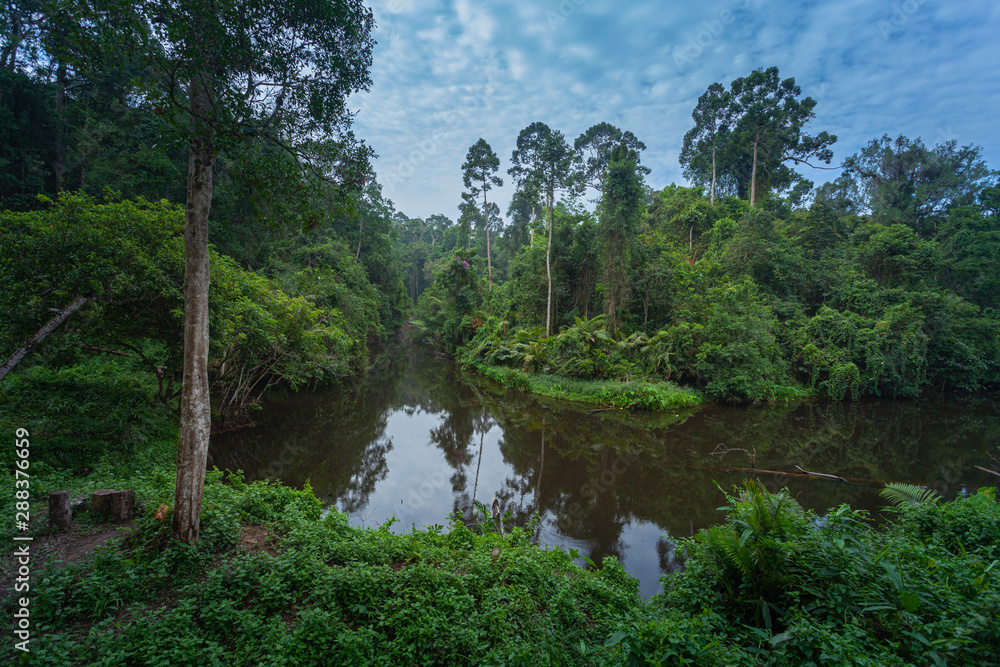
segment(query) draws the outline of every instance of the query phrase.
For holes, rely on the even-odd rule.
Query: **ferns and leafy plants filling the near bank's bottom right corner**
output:
[[[686,569],[663,578],[657,623],[615,636],[633,662],[724,664],[714,661],[738,651],[729,659],[761,665],[1000,660],[1000,505],[990,494],[906,503],[881,530],[862,511],[817,517],[756,484],[728,500],[726,525],[686,541]]]

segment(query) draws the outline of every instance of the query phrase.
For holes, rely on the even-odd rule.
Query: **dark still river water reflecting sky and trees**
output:
[[[545,545],[617,556],[644,595],[677,567],[674,540],[718,523],[745,479],[787,487],[808,508],[878,516],[882,481],[946,496],[996,478],[1000,396],[808,403],[669,413],[593,411],[470,377],[404,348],[350,386],[273,393],[262,425],[212,439],[209,465],[246,479],[308,480],[352,523],[393,530],[473,520],[496,497],[512,525],[540,515]],[[804,470],[850,483],[769,474]],[[753,468],[757,472],[739,470]],[[581,559],[582,560],[582,559]]]

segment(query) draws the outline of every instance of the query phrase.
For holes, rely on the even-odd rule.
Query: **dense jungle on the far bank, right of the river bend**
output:
[[[634,157],[624,165],[636,181]],[[975,147],[905,137],[846,165],[807,198],[758,189],[754,206],[671,185],[626,192],[624,212],[602,199],[595,215],[570,196],[550,211],[551,248],[519,196],[494,243],[492,290],[481,214],[471,249],[455,227],[410,220],[419,323],[480,368],[672,381],[723,402],[1000,386],[996,172]]]

